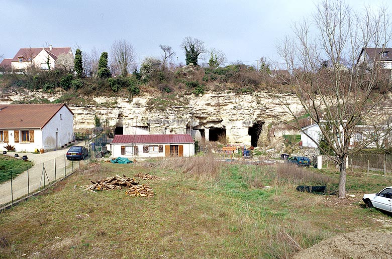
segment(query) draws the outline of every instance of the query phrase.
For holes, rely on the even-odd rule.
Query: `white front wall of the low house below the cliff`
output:
[[[186,143],[186,144],[111,144],[111,150],[112,150],[112,157],[118,158],[156,158],[156,157],[165,157],[165,146],[170,146],[170,145],[182,145],[183,147],[183,156],[184,157],[190,157],[194,155],[194,144],[193,143]],[[133,147],[137,146],[138,147],[138,154],[125,154],[121,155],[121,147],[126,146],[126,147]],[[143,152],[143,146],[163,146],[163,152],[149,152],[149,153],[144,153]],[[133,150],[133,148],[131,148]],[[150,149],[149,149],[150,150]]]

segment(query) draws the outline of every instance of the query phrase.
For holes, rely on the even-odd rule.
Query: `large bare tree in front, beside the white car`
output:
[[[391,24],[384,10],[366,9],[359,14],[343,1],[323,0],[311,20],[294,25],[293,36],[286,37],[278,47],[291,73],[286,82],[292,86],[304,113],[320,127],[334,154],[329,157],[339,165],[340,198],[346,196],[346,158],[366,144],[362,141],[350,147],[350,140],[359,124],[377,115],[375,108],[390,90],[390,71],[383,69],[380,54],[374,55],[371,69],[358,64],[362,48],[372,47],[381,53],[391,39]],[[298,111],[282,101],[292,115],[287,123],[306,134]],[[315,142],[327,154],[325,146]]]

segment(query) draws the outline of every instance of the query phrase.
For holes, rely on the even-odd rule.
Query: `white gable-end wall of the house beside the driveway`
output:
[[[57,143],[56,143],[57,132]],[[72,141],[73,115],[63,106],[42,129],[43,149],[54,150]],[[56,147],[57,144],[57,147]]]

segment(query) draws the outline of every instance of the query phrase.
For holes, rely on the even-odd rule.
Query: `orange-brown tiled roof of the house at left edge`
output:
[[[0,128],[43,128],[65,106],[59,104],[10,104],[0,105]]]

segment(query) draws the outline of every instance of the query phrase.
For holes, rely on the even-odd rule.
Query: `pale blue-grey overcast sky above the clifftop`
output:
[[[110,52],[114,40],[131,42],[140,63],[169,45],[179,62],[184,37],[222,50],[229,63],[277,58],[276,44],[293,22],[312,14],[317,0],[0,0],[0,55],[20,48],[80,47]],[[354,8],[381,0],[350,0]],[[389,7],[390,8],[390,7]]]

